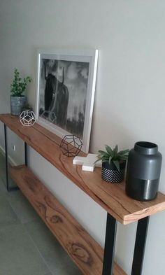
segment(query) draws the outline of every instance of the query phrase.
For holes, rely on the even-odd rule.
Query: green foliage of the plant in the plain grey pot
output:
[[[15,69],[13,83],[11,83],[11,95],[14,97],[21,97],[22,93],[26,90],[27,84],[30,83],[32,78],[27,76],[26,78],[20,77],[20,72]]]

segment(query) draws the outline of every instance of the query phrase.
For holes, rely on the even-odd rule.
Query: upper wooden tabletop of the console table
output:
[[[41,125],[24,127],[19,118],[10,114],[1,114],[0,120],[120,223],[127,225],[165,209],[165,195],[161,192],[151,202],[138,202],[125,194],[124,182],[113,185],[103,181],[100,168],[92,173],[73,165],[73,157],[66,157],[59,148],[61,139]]]

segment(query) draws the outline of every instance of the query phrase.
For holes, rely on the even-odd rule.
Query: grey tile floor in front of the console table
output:
[[[22,193],[6,191],[2,174],[0,275],[82,274]]]

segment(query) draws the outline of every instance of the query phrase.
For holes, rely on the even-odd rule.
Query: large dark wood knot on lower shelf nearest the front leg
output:
[[[71,253],[76,256],[81,262],[85,262],[87,265],[92,265],[92,255],[87,251],[87,248],[82,244],[72,244],[71,245]]]

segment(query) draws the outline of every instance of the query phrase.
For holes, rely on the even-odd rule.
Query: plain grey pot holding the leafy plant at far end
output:
[[[24,104],[26,102],[26,97],[14,97],[10,96],[10,113],[11,115],[20,115],[22,109],[24,108]]]

